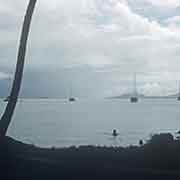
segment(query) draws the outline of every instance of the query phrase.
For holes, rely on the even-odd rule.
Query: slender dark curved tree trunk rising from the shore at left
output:
[[[36,0],[29,1],[27,12],[24,18],[13,86],[10,93],[8,104],[0,121],[0,138],[4,137],[7,133],[19,96],[26,55],[26,45],[35,4]]]

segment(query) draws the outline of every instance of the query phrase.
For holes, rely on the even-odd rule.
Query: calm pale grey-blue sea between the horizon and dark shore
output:
[[[1,113],[5,108],[1,101]],[[108,133],[117,129],[120,136]],[[136,145],[151,134],[180,130],[180,102],[171,100],[21,100],[8,135],[42,147]]]

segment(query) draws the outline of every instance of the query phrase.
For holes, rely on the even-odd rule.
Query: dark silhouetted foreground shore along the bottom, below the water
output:
[[[6,137],[0,179],[180,179],[180,141],[155,135],[141,147],[45,149]]]

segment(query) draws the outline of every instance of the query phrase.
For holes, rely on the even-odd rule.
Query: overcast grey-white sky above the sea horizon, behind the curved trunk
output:
[[[0,0],[0,95],[9,93],[28,0]],[[174,94],[180,0],[37,0],[21,95]]]

